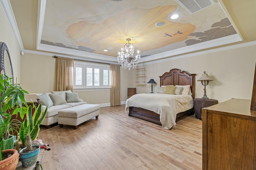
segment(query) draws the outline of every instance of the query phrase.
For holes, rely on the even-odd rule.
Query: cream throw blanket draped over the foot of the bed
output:
[[[128,107],[141,107],[160,114],[160,122],[164,129],[176,125],[176,106],[174,97],[170,94],[136,94],[126,100],[125,111]]]

